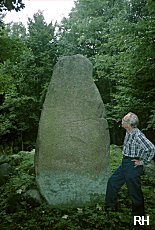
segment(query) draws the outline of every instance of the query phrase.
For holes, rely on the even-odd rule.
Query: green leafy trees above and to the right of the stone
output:
[[[110,128],[133,111],[141,128],[154,129],[153,9],[149,0],[79,0],[60,25],[60,55],[81,53],[94,64]]]

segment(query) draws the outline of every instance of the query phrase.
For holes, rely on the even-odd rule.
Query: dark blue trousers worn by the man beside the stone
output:
[[[140,178],[142,173],[143,166],[134,167],[134,162],[131,159],[123,159],[122,164],[108,180],[105,207],[116,208],[118,192],[126,183],[129,196],[132,200],[133,215],[144,216],[144,197]]]

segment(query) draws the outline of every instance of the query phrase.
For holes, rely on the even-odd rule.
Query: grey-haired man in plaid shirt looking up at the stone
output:
[[[149,163],[155,154],[155,146],[137,128],[138,117],[128,113],[122,119],[122,127],[126,129],[123,144],[121,165],[109,178],[105,198],[106,210],[117,210],[117,194],[126,183],[132,200],[133,216],[144,216],[144,198],[141,189],[143,165]]]

